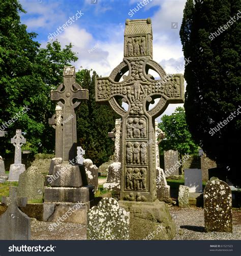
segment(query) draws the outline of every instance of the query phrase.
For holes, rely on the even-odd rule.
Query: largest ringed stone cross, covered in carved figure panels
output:
[[[109,77],[96,79],[96,101],[109,102],[122,116],[120,200],[156,200],[155,118],[169,103],[184,102],[183,75],[167,76],[153,61],[151,23],[149,18],[126,21],[123,62]],[[155,80],[149,70],[161,79]],[[128,110],[118,104],[118,98],[128,104]],[[157,98],[158,103],[149,109]]]

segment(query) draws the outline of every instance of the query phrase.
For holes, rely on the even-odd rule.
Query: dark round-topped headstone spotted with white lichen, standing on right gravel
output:
[[[232,232],[232,193],[227,183],[211,178],[204,189],[205,232]]]

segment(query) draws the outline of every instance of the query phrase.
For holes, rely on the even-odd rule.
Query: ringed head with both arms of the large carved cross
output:
[[[129,69],[129,74],[123,76],[123,81],[119,82],[119,72],[124,73]],[[146,74],[145,70],[152,67],[157,71],[161,77],[159,80]],[[137,69],[137,72],[135,69]],[[124,71],[123,71],[124,70]],[[134,71],[135,73],[133,73]],[[136,112],[138,104],[143,103],[147,106],[154,99],[160,98],[159,103],[152,110],[146,109],[151,116],[160,115],[166,109],[169,103],[183,103],[184,102],[184,78],[182,74],[167,75],[162,67],[150,59],[130,61],[124,58],[124,62],[110,74],[109,77],[99,77],[96,79],[96,101],[109,101],[110,105],[119,115],[124,116],[126,111],[119,106],[116,97],[122,97],[123,101],[131,105],[134,110],[134,115],[142,113]],[[147,107],[148,108],[148,107]]]

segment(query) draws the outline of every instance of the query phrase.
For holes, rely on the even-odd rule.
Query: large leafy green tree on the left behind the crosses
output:
[[[37,34],[27,33],[21,24],[20,12],[25,13],[17,0],[0,5],[0,128],[8,131],[6,149],[12,151],[10,138],[22,129],[29,149],[48,152],[54,149],[54,133],[48,125],[55,108],[50,90],[61,82],[63,67],[77,57],[71,44],[61,49],[53,42],[40,49],[34,40]]]

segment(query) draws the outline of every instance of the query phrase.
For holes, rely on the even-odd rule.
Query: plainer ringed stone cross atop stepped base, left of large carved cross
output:
[[[88,90],[82,89],[75,82],[75,67],[65,67],[64,81],[56,91],[51,91],[51,100],[63,107],[63,161],[71,161],[76,158],[77,132],[76,115],[74,109],[81,100],[88,100]],[[58,154],[59,155],[59,154]],[[61,156],[59,156],[61,157]]]

